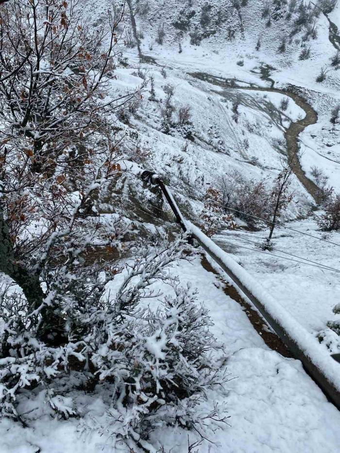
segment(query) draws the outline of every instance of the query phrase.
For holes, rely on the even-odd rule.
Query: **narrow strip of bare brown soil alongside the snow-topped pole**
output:
[[[245,314],[252,323],[258,335],[260,335],[263,338],[263,341],[266,343],[266,345],[273,351],[279,352],[284,357],[293,357],[289,349],[281,341],[281,339],[276,334],[270,331],[269,326],[266,324],[266,321],[261,317],[258,311],[256,311],[255,308],[253,308],[253,306],[249,302],[246,302],[238,294],[234,286],[229,285],[222,279],[221,275],[211,266],[209,261],[206,259],[205,255],[202,255],[201,263],[205,270],[215,274],[218,277],[218,279],[223,283],[224,293],[231,299],[233,299],[233,301],[238,302],[238,304],[241,305],[242,308],[244,308]]]

